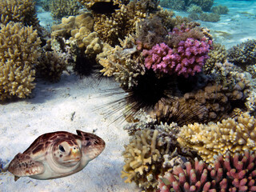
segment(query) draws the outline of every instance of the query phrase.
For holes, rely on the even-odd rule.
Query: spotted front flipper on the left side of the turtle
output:
[[[27,154],[17,154],[10,162],[8,170],[16,177],[24,177],[42,174],[45,171],[45,167],[42,162],[34,161]]]

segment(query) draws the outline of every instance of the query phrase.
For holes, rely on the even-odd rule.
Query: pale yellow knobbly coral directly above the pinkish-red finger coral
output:
[[[256,120],[244,113],[222,122],[182,126],[177,140],[182,146],[198,151],[204,161],[213,164],[214,155],[226,157],[227,152],[233,155],[256,150]]]

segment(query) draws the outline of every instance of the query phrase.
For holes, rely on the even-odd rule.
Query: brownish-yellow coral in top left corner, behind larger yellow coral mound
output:
[[[22,22],[25,26],[37,26],[38,18],[35,10],[35,2],[30,0],[1,0],[0,23]]]

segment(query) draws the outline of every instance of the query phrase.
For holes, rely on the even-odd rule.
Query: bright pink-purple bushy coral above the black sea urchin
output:
[[[164,42],[152,47],[151,50],[143,50],[145,66],[155,72],[165,74],[178,74],[188,78],[202,70],[202,66],[208,58],[211,41],[187,38],[178,43],[177,49],[172,49]]]

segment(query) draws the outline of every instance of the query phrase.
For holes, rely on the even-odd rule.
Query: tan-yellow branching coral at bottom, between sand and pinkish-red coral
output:
[[[159,150],[156,149],[158,130],[142,130],[135,134],[136,139],[132,140],[126,150],[123,152],[126,165],[123,166],[122,178],[125,182],[139,182],[140,187],[149,188],[151,185],[156,187],[157,180],[154,183],[148,181],[138,181],[139,175],[145,174],[145,178],[150,178],[150,172],[154,171],[156,162],[161,162],[162,157]],[[142,180],[142,179],[141,179]]]

